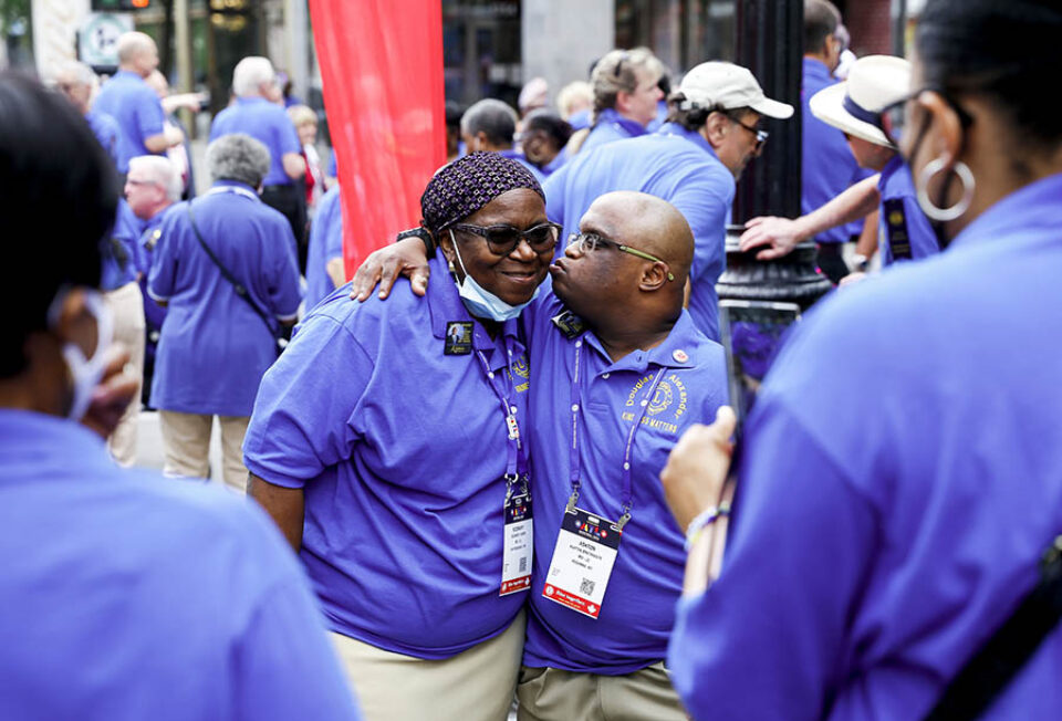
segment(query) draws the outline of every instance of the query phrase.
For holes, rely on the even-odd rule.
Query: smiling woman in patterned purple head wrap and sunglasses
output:
[[[367,719],[504,719],[530,585],[527,354],[516,316],[558,229],[478,153],[420,200],[427,302],[337,290],[262,382],[250,492],[300,552]]]

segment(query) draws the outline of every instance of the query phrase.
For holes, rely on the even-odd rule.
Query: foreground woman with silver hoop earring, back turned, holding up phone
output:
[[[1060,35],[1054,1],[926,3],[900,153],[949,244],[816,307],[768,375],[721,572],[706,588],[709,525],[669,649],[695,718],[926,718],[1038,585],[1062,533]],[[732,428],[673,453],[680,525],[710,520]],[[1062,717],[1041,628],[935,718]]]

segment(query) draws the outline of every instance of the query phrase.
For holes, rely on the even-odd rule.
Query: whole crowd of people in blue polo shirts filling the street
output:
[[[1060,31],[927,0],[910,61],[856,59],[804,0],[802,216],[740,243],[839,289],[740,433],[716,282],[798,111],[746,67],[615,50],[559,112],[448,106],[350,283],[269,60],[200,197],[147,35],[102,86],[0,74],[0,202],[45,234],[2,291],[0,717],[1056,718]]]

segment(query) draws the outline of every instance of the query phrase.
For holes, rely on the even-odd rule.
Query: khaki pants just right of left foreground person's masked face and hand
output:
[[[122,288],[103,294],[103,302],[114,318],[114,339],[129,352],[126,366],[136,377],[136,395],[128,408],[122,414],[117,427],[107,439],[111,456],[119,466],[133,466],[136,462],[136,424],[140,415],[140,384],[144,383],[144,345],[146,343],[144,323],[144,295],[136,283],[126,283]]]

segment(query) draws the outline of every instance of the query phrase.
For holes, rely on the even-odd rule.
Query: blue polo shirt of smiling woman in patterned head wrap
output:
[[[243,452],[305,491],[301,557],[331,628],[440,659],[506,630],[527,599],[498,594],[501,398],[525,435],[529,380],[517,322],[491,339],[430,264],[426,302],[396,288],[353,303],[344,285],[310,313],[262,380]],[[470,353],[445,354],[455,327]]]

